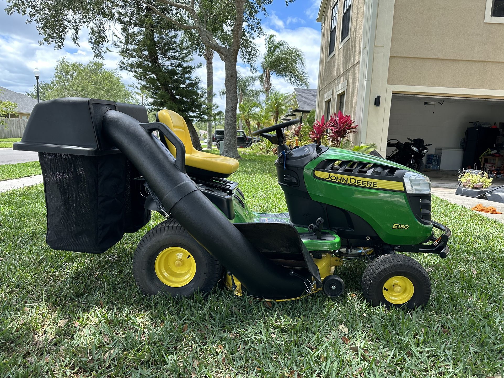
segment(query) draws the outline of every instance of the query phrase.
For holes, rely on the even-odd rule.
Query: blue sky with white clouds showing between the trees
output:
[[[274,0],[268,7],[268,17],[263,17],[263,29],[274,33],[278,39],[286,40],[291,46],[300,48],[306,58],[306,68],[310,78],[310,87],[317,88],[319,70],[320,24],[315,21],[321,0],[296,0],[285,7],[283,0]],[[67,38],[65,47],[54,50],[53,46],[39,45],[40,36],[33,24],[26,24],[26,19],[18,14],[8,16],[4,9],[5,0],[0,0],[0,86],[25,93],[31,90],[35,82],[33,69],[40,70],[40,80],[49,80],[54,73],[54,65],[61,57],[71,61],[86,63],[93,59],[92,51],[85,40],[76,46]],[[85,35],[85,33],[83,33]],[[264,37],[256,40],[260,53],[264,51]],[[107,68],[115,69],[119,57],[108,52],[103,57]],[[202,58],[195,56],[195,60]],[[249,67],[238,62],[238,70],[249,73]],[[133,83],[128,72],[120,71],[123,81]],[[197,72],[206,85],[205,68]],[[273,79],[273,86],[283,92],[291,92],[293,87],[279,78]],[[214,57],[214,92],[224,87],[224,64],[217,54]],[[223,108],[224,100],[216,96],[215,101]]]

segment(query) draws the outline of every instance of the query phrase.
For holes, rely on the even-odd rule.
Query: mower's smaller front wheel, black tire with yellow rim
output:
[[[362,276],[362,293],[372,305],[415,308],[430,297],[430,280],[414,259],[399,254],[374,259]]]

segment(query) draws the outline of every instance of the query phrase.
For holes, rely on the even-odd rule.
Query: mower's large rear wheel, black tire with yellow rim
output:
[[[133,274],[144,294],[192,296],[209,293],[222,267],[174,219],[166,220],[142,238],[133,258]]]

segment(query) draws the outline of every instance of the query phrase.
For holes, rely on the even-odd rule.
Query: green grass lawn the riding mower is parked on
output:
[[[255,211],[285,211],[273,158],[244,155],[231,179]],[[0,376],[487,377],[504,363],[504,224],[434,198],[453,231],[448,259],[415,255],[432,280],[425,308],[370,307],[364,265],[346,291],[274,303],[216,290],[140,294],[132,256],[161,217],[102,255],[46,244],[42,185],[0,194]],[[346,344],[342,337],[348,338]],[[291,373],[296,370],[298,373]]]

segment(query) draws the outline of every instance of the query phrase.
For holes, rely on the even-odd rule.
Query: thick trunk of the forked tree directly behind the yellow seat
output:
[[[222,155],[232,158],[239,158],[238,147],[236,144],[236,107],[238,106],[238,93],[236,92],[237,75],[236,75],[236,60],[238,53],[229,52],[222,55],[224,67],[226,70],[226,79],[224,86],[226,87],[226,110],[224,116],[224,147]]]

